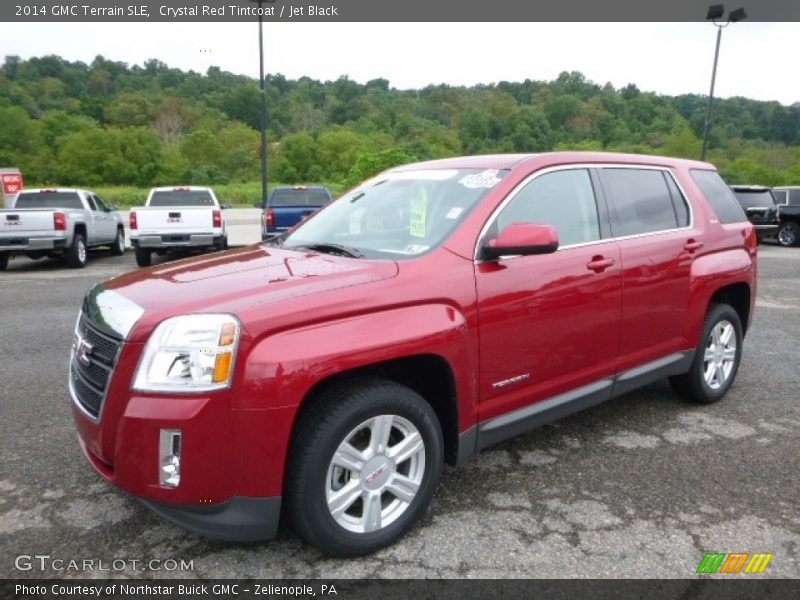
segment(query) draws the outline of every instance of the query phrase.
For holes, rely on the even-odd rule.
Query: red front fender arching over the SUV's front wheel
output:
[[[453,372],[459,431],[477,414],[477,341],[448,304],[390,308],[281,331],[257,341],[244,358],[245,393],[237,408],[298,406],[314,385],[345,371],[433,354]]]

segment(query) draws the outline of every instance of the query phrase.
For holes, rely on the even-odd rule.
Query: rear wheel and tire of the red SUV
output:
[[[670,377],[678,395],[689,402],[711,404],[722,399],[736,379],[742,359],[742,324],[728,304],[712,304],[687,373]]]

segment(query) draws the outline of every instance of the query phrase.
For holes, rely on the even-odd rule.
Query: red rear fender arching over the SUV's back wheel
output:
[[[754,261],[744,248],[714,252],[697,257],[692,262],[689,284],[689,310],[686,315],[684,335],[696,346],[703,329],[708,304],[720,289],[736,283],[750,288],[750,315],[755,302]],[[742,327],[747,328],[747,323]]]

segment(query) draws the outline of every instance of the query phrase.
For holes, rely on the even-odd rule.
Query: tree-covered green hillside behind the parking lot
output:
[[[385,166],[486,152],[582,149],[698,158],[706,97],[555,81],[397,90],[267,80],[270,181],[339,189]],[[158,60],[128,66],[57,56],[0,68],[0,166],[26,185],[149,187],[260,178],[258,81]],[[730,182],[800,184],[800,103],[715,100],[709,160]],[[250,192],[248,192],[250,193]],[[256,198],[257,199],[257,198]]]

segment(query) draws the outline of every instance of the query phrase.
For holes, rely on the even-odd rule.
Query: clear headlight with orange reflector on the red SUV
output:
[[[147,340],[133,389],[205,392],[226,388],[239,345],[233,315],[197,314],[167,319]]]

